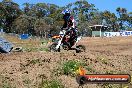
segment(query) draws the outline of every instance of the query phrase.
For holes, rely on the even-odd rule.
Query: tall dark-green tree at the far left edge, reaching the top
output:
[[[21,10],[17,3],[12,2],[11,0],[3,0],[0,3],[0,25],[5,32],[11,32],[12,22],[19,17]]]

